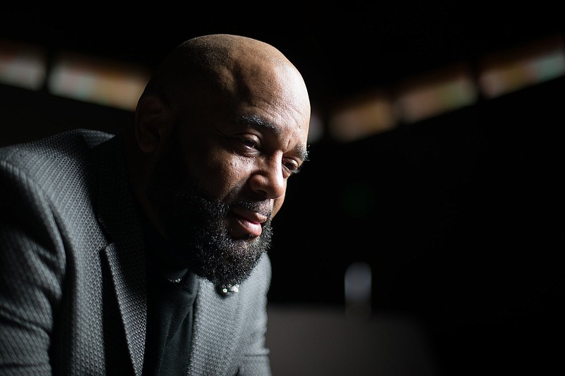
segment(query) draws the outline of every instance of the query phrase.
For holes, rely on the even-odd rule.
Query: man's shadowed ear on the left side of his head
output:
[[[136,141],[143,152],[154,152],[165,143],[172,127],[169,105],[156,95],[139,100],[135,115]]]

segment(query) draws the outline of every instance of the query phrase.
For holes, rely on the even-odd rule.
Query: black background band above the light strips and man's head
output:
[[[6,5],[0,37],[154,66],[189,37],[258,37],[303,72],[319,107],[449,63],[562,32],[553,1],[374,1],[257,5],[167,3],[118,7]],[[188,4],[187,4],[188,5]]]

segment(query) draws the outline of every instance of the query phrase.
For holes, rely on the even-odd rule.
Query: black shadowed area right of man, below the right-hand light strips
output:
[[[445,375],[562,369],[564,94],[559,78],[312,145],[275,219],[270,300],[343,305],[364,261],[373,312],[421,319]]]

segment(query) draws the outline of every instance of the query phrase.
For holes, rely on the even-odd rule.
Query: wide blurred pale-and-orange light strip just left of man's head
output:
[[[148,80],[141,66],[67,52],[54,61],[48,87],[53,95],[133,111]]]

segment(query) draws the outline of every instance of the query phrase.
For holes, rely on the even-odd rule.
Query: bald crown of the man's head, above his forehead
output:
[[[179,44],[157,67],[143,96],[157,95],[182,109],[186,101],[203,104],[245,100],[249,85],[260,90],[291,87],[308,102],[295,66],[270,44],[239,35],[205,35]],[[292,85],[292,86],[290,86]],[[218,97],[219,96],[219,97]]]

